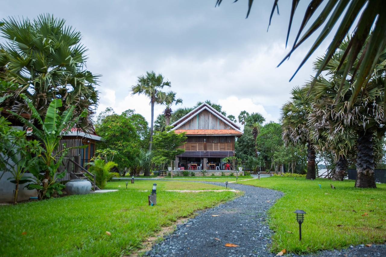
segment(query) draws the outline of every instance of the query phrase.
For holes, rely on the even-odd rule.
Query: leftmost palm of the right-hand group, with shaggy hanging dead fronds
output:
[[[310,97],[305,87],[295,87],[291,100],[281,108],[283,140],[286,145],[307,144],[306,179],[315,179],[315,146],[310,137],[308,115],[312,112]]]

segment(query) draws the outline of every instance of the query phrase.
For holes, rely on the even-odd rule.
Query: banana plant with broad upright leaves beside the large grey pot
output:
[[[62,101],[60,99],[54,99],[49,104],[46,116],[43,120],[32,102],[25,95],[21,96],[24,98],[32,112],[31,118],[37,120],[41,129],[37,128],[30,120],[21,117],[19,114],[12,111],[8,112],[12,113],[12,115],[17,117],[20,122],[24,123],[29,130],[32,130],[32,134],[40,140],[42,147],[44,148],[44,151],[39,158],[39,162],[30,169],[30,172],[36,177],[36,181],[34,184],[29,184],[29,189],[37,189],[39,191],[39,199],[50,198],[55,192],[62,194],[61,189],[64,188],[64,185],[56,183],[56,180],[63,178],[66,171],[61,172],[60,174],[56,174],[56,172],[61,165],[64,156],[66,156],[68,149],[83,148],[87,146],[64,147],[61,151],[55,151],[58,149],[63,135],[69,129],[74,127],[74,124],[78,122],[81,117],[85,117],[87,112],[85,111],[81,116],[74,118],[73,111],[75,106],[60,112],[59,108],[62,107]],[[41,174],[41,172],[44,174]]]

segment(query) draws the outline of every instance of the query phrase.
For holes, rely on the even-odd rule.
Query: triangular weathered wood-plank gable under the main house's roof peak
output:
[[[179,127],[179,129],[232,129],[232,127],[211,112],[208,112],[208,110],[203,110]]]

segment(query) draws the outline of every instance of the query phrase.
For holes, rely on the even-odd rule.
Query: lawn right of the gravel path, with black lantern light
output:
[[[336,189],[332,189],[330,183]],[[239,184],[284,193],[268,213],[269,225],[275,232],[273,252],[285,248],[288,252],[302,254],[386,241],[386,184],[377,184],[376,189],[362,189],[354,188],[352,180],[310,181],[285,177],[241,181]],[[301,242],[293,213],[296,209],[307,213],[302,224]]]

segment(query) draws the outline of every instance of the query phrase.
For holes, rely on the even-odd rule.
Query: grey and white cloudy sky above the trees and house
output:
[[[32,19],[49,13],[80,30],[89,49],[87,68],[102,74],[97,113],[106,107],[117,113],[135,109],[148,121],[149,100],[131,96],[130,87],[137,76],[151,70],[171,81],[182,106],[208,99],[235,117],[247,110],[278,121],[291,88],[310,79],[312,60],[327,48],[322,45],[291,82],[315,37],[276,68],[288,52],[290,1],[279,1],[280,15],[274,14],[268,32],[273,0],[256,0],[248,19],[247,0],[223,0],[220,7],[215,7],[215,0],[16,2],[2,1],[0,19]],[[300,1],[289,44],[303,18],[305,2]],[[156,115],[162,110],[156,106]]]

